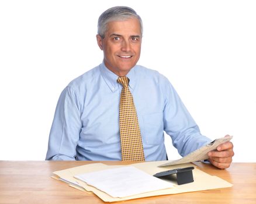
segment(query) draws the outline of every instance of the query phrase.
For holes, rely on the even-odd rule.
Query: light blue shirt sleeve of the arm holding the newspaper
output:
[[[186,156],[211,140],[200,133],[174,87],[165,78],[164,131],[171,136],[172,145]]]

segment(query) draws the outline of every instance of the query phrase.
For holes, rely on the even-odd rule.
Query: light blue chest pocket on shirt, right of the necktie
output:
[[[164,142],[164,122],[162,112],[143,115],[142,136],[148,145],[158,145]]]

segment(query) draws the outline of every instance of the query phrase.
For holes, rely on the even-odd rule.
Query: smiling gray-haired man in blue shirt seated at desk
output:
[[[51,127],[47,160],[129,157],[132,153],[123,156],[126,152],[122,139],[126,136],[123,133],[126,127],[121,124],[124,89],[132,98],[133,116],[139,121],[139,125],[128,129],[136,132],[135,140],[143,147],[141,160],[166,160],[164,131],[171,136],[181,156],[210,142],[200,134],[168,79],[157,71],[136,65],[142,34],[140,16],[133,9],[117,6],[102,13],[96,39],[103,50],[103,63],[72,80],[61,93]],[[120,82],[124,79],[129,85]],[[134,131],[135,127],[139,129]],[[127,140],[129,143],[129,137]],[[209,153],[209,161],[218,168],[227,168],[233,155],[233,144],[227,142]]]

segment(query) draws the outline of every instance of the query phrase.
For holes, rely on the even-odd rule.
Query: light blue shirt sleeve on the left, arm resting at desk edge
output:
[[[58,99],[51,126],[46,160],[76,160],[76,147],[81,132],[79,100],[71,87]]]

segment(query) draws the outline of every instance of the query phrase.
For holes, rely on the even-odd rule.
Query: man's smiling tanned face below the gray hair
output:
[[[118,76],[125,76],[140,58],[141,30],[138,19],[108,23],[105,37],[97,35],[106,67]]]

